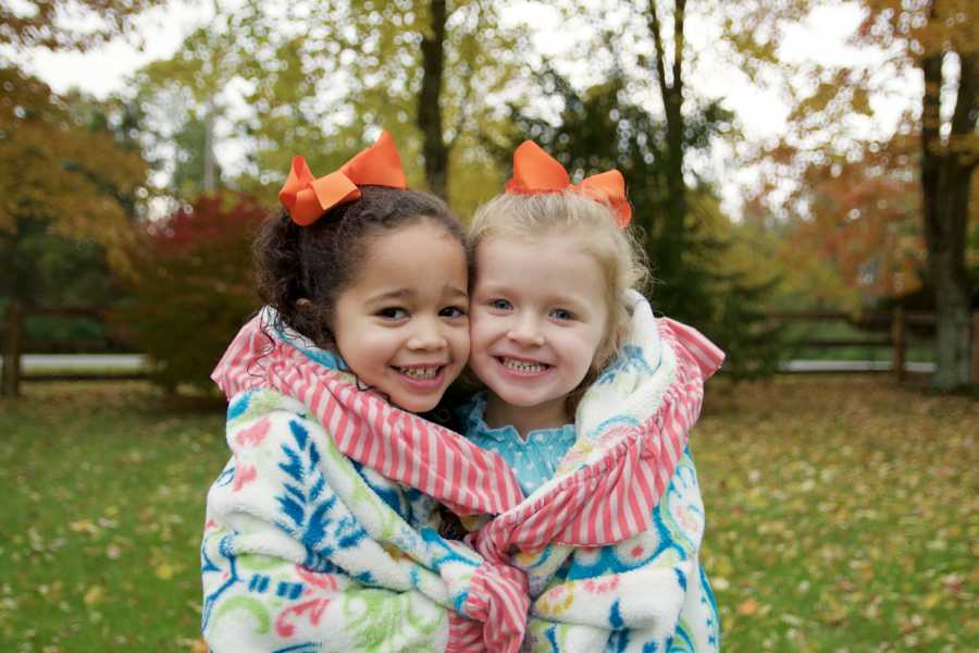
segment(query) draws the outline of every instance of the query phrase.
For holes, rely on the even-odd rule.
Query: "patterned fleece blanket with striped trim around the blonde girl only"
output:
[[[526,651],[719,649],[687,435],[723,353],[630,300],[629,342],[585,393],[555,477],[469,537],[526,572]]]

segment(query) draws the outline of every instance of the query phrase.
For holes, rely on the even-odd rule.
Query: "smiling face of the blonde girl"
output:
[[[475,263],[473,372],[504,403],[567,420],[607,329],[599,266],[573,235],[491,237]]]

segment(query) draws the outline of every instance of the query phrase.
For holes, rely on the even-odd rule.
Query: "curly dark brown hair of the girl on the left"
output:
[[[255,242],[259,297],[278,312],[282,325],[324,349],[336,350],[336,300],[357,281],[372,238],[431,221],[464,246],[462,226],[434,195],[384,186],[360,192],[360,199],[333,207],[308,226],[281,211],[262,223]]]

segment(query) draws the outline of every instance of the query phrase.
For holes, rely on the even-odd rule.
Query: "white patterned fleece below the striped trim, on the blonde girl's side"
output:
[[[524,650],[718,650],[717,611],[698,562],[703,533],[704,506],[687,449],[648,530],[606,546],[554,544],[516,556],[532,583],[545,587],[532,588]]]

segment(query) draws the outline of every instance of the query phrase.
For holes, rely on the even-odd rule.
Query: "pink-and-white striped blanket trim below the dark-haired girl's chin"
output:
[[[228,399],[264,387],[301,402],[344,455],[459,515],[497,515],[523,500],[517,477],[501,457],[359,390],[265,334],[259,316],[241,328],[211,379]]]

